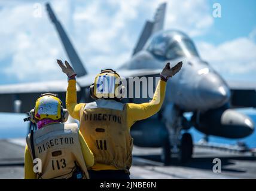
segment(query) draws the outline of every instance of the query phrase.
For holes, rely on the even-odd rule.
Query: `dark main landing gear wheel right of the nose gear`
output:
[[[190,133],[184,133],[181,137],[181,146],[179,147],[179,162],[185,163],[190,161],[193,154],[193,140]]]

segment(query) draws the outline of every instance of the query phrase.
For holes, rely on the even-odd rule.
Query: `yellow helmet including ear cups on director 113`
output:
[[[53,119],[60,122],[68,120],[68,110],[63,109],[62,101],[56,94],[42,94],[35,102],[35,108],[29,112],[32,122],[41,119]]]

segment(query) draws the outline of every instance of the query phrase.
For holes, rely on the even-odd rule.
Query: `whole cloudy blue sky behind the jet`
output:
[[[66,79],[56,58],[66,58],[48,19],[45,1],[0,2],[0,84]],[[89,72],[129,59],[144,21],[160,2],[146,0],[50,1]],[[196,42],[200,56],[225,79],[255,82],[256,1],[166,1],[165,29]],[[221,18],[212,5],[221,5]],[[42,16],[33,15],[35,3]]]

